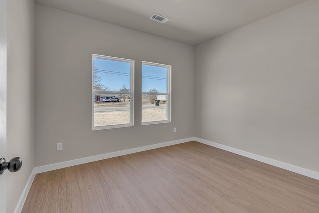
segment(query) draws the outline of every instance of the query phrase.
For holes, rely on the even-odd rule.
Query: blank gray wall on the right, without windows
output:
[[[195,48],[195,136],[319,172],[319,1]]]

